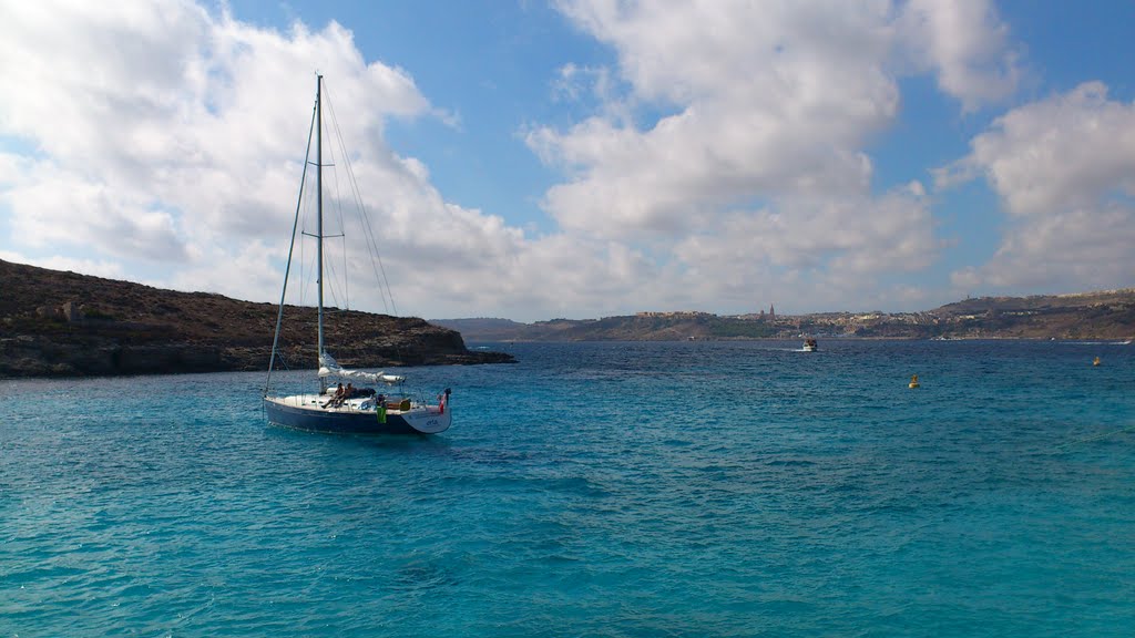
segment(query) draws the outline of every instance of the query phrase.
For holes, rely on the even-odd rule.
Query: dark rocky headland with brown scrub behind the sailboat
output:
[[[266,370],[278,307],[0,261],[0,377]],[[316,309],[285,308],[280,350],[316,367]],[[422,319],[330,309],[348,367],[512,361]]]

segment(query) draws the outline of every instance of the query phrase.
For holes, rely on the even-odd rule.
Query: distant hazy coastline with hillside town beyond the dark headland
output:
[[[445,319],[436,324],[477,342],[686,341],[849,336],[865,338],[1135,337],[1135,288],[1068,295],[981,297],[925,312],[825,312],[791,317],[706,312],[641,312],[603,319],[518,324],[507,319]]]

